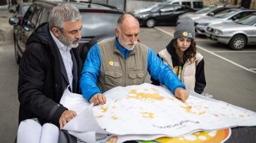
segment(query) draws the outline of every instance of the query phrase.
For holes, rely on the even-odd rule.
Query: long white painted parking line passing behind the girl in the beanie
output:
[[[155,27],[155,29],[158,29],[158,30],[160,30],[161,32],[164,32],[164,33],[166,33],[166,34],[169,34],[170,36],[173,37],[173,34],[172,34],[172,33],[165,32],[165,30],[160,29],[160,28],[158,28],[158,27]],[[246,68],[246,67],[243,67],[241,64],[237,64],[236,62],[233,62],[233,61],[227,59],[226,57],[222,57],[221,55],[218,55],[218,54],[216,54],[216,53],[213,53],[212,51],[207,50],[207,49],[205,49],[205,48],[203,48],[203,47],[201,47],[201,46],[198,46],[198,45],[197,45],[196,47],[197,47],[197,48],[200,48],[201,50],[204,50],[204,51],[207,52],[207,53],[210,53],[210,54],[212,54],[212,55],[215,55],[216,57],[219,57],[219,58],[221,58],[222,60],[226,60],[226,62],[229,62],[229,63],[231,63],[231,64],[234,64],[234,65],[236,65],[237,67],[241,67],[242,69],[245,69],[245,70],[247,70],[247,71],[251,71],[251,72],[253,72],[253,73],[256,74],[256,71],[253,71],[252,69],[248,69],[248,68]]]

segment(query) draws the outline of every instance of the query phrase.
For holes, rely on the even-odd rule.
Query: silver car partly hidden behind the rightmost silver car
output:
[[[208,25],[239,20],[247,15],[250,15],[251,13],[254,13],[255,11],[256,10],[247,8],[231,8],[212,17],[207,16],[205,18],[199,18],[198,20],[195,20],[196,34],[205,35]]]

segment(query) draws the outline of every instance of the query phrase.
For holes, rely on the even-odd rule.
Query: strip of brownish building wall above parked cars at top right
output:
[[[241,1],[242,0],[203,0],[203,5],[210,6],[210,5],[229,4],[229,5],[241,6]],[[256,0],[250,0],[250,8],[256,9]]]

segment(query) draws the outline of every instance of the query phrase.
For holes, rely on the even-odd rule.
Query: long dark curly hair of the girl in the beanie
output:
[[[177,39],[175,39],[173,46],[174,48],[179,48]],[[194,41],[193,39],[191,39],[191,46],[189,46],[189,48],[185,50],[184,57],[186,58],[186,60],[189,60],[189,62],[194,62],[196,60],[196,41]]]

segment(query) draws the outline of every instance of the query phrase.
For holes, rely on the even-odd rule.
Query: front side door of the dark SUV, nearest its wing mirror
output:
[[[27,39],[29,38],[29,36],[32,34],[32,32],[37,26],[37,20],[39,18],[40,13],[41,13],[41,7],[32,5],[27,10],[23,18],[23,23],[20,29],[18,29],[18,40],[17,40],[17,46],[18,46],[20,55],[23,55],[25,51]]]

